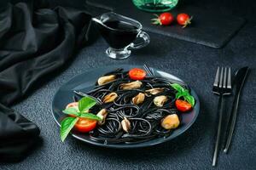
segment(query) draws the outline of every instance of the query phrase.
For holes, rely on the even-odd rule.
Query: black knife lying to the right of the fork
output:
[[[241,88],[243,87],[243,84],[246,80],[247,73],[249,71],[249,67],[243,67],[236,71],[236,77],[235,77],[235,85],[236,85],[236,93],[235,98],[232,104],[232,110],[230,113],[228,125],[230,125],[230,128],[227,129],[226,133],[226,141],[224,145],[224,153],[227,153],[230,147],[230,142],[234,133],[235,125],[236,125],[236,116],[237,116],[237,109],[241,94]]]

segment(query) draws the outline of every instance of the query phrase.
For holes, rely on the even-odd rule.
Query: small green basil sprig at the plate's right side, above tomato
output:
[[[189,90],[183,88],[181,85],[177,83],[171,84],[172,88],[177,90],[177,94],[175,96],[176,99],[180,99],[183,97],[185,101],[187,101],[192,107],[195,105],[195,99],[192,95],[189,94]]]

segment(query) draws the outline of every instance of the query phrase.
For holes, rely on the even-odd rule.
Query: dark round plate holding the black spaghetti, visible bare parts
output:
[[[73,101],[73,90],[86,92],[89,91],[91,88],[94,88],[96,80],[102,76],[102,74],[107,73],[108,71],[113,71],[117,68],[124,68],[126,71],[129,71],[131,68],[143,68],[141,65],[111,65],[108,67],[93,69],[90,71],[86,71],[83,74],[80,74],[76,77],[73,77],[71,80],[66,82],[59,90],[56,92],[54,99],[52,101],[52,115],[55,119],[55,122],[60,126],[61,120],[65,116],[61,111],[65,108],[65,106]],[[183,82],[181,79],[172,76],[169,73],[164,71],[158,71],[152,68],[154,71],[154,75],[156,77],[165,77],[167,79],[176,80],[179,82]],[[199,114],[200,110],[200,103],[198,96],[195,94],[195,91],[191,88],[191,94],[195,98],[195,107],[192,111],[188,113],[183,113],[182,116],[182,126],[178,127],[173,133],[166,138],[158,138],[152,139],[147,142],[138,143],[138,144],[102,144],[90,139],[87,133],[72,133],[73,137],[79,140],[84,141],[85,143],[94,144],[103,147],[110,147],[110,148],[138,148],[138,147],[145,147],[151,146],[154,144],[164,143],[171,139],[176,138],[178,135],[185,132],[194,122],[196,117]]]

